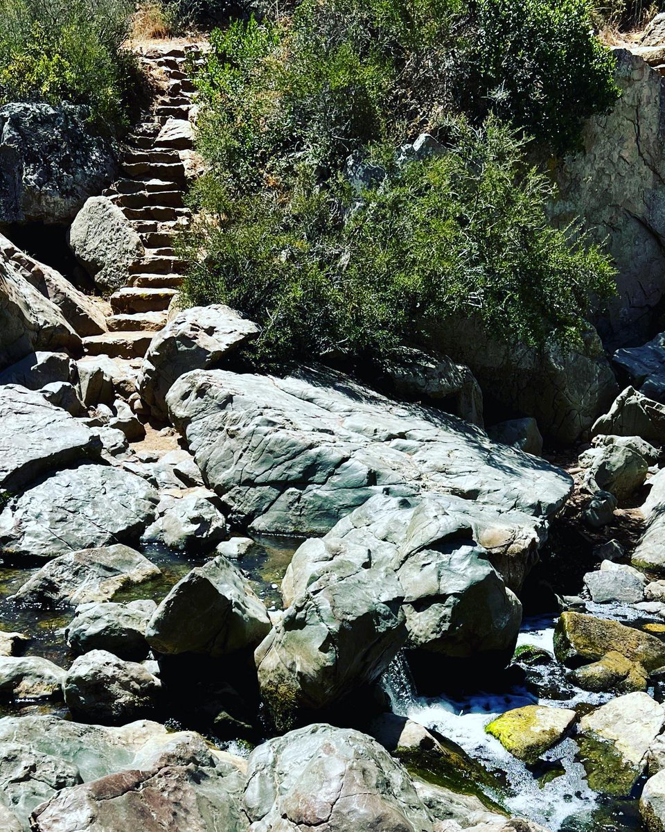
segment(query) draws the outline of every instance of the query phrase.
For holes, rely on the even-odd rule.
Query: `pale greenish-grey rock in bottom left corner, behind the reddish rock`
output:
[[[0,805],[27,832],[28,815],[58,790],[155,765],[214,766],[219,757],[199,735],[170,733],[156,722],[105,728],[55,716],[6,717],[0,720]]]

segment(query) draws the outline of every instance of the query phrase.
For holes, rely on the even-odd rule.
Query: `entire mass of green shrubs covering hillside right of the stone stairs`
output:
[[[584,0],[302,0],[212,46],[185,291],[258,321],[264,364],[362,362],[466,314],[571,342],[611,294],[527,161],[617,97]]]

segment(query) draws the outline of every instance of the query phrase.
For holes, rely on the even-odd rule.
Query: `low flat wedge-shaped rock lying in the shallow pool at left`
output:
[[[79,604],[109,601],[116,592],[161,574],[147,557],[128,546],[69,552],[46,563],[13,596],[27,604]]]

